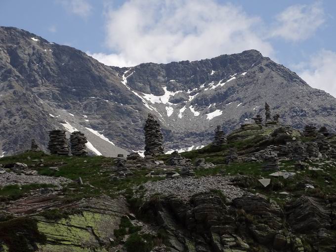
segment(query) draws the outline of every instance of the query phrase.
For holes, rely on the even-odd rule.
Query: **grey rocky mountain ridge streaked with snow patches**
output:
[[[255,50],[118,68],[0,27],[0,69],[0,156],[28,149],[31,138],[46,149],[47,131],[63,126],[82,131],[107,156],[143,150],[148,113],[160,121],[167,151],[205,145],[215,126],[228,132],[263,114],[266,101],[285,124],[336,126],[334,97]]]

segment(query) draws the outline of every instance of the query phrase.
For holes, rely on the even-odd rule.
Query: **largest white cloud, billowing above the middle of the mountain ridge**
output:
[[[106,43],[115,53],[89,54],[116,66],[199,60],[247,49],[272,56],[261,27],[258,17],[215,0],[128,0],[107,12]]]

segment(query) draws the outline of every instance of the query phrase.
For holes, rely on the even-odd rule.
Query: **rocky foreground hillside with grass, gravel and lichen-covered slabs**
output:
[[[335,252],[336,136],[308,131],[242,125],[155,158],[1,158],[1,250]]]

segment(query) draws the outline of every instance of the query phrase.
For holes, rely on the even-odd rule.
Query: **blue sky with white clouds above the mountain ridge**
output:
[[[118,66],[255,48],[336,96],[334,0],[0,0],[0,25]]]

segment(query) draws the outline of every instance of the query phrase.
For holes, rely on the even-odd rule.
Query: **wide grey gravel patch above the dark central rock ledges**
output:
[[[165,179],[157,182],[142,184],[146,189],[145,199],[151,195],[160,193],[175,195],[180,199],[188,200],[192,195],[200,192],[208,192],[210,189],[221,190],[226,197],[234,199],[243,196],[247,192],[241,188],[230,185],[231,176],[210,176],[202,178],[177,178]]]

